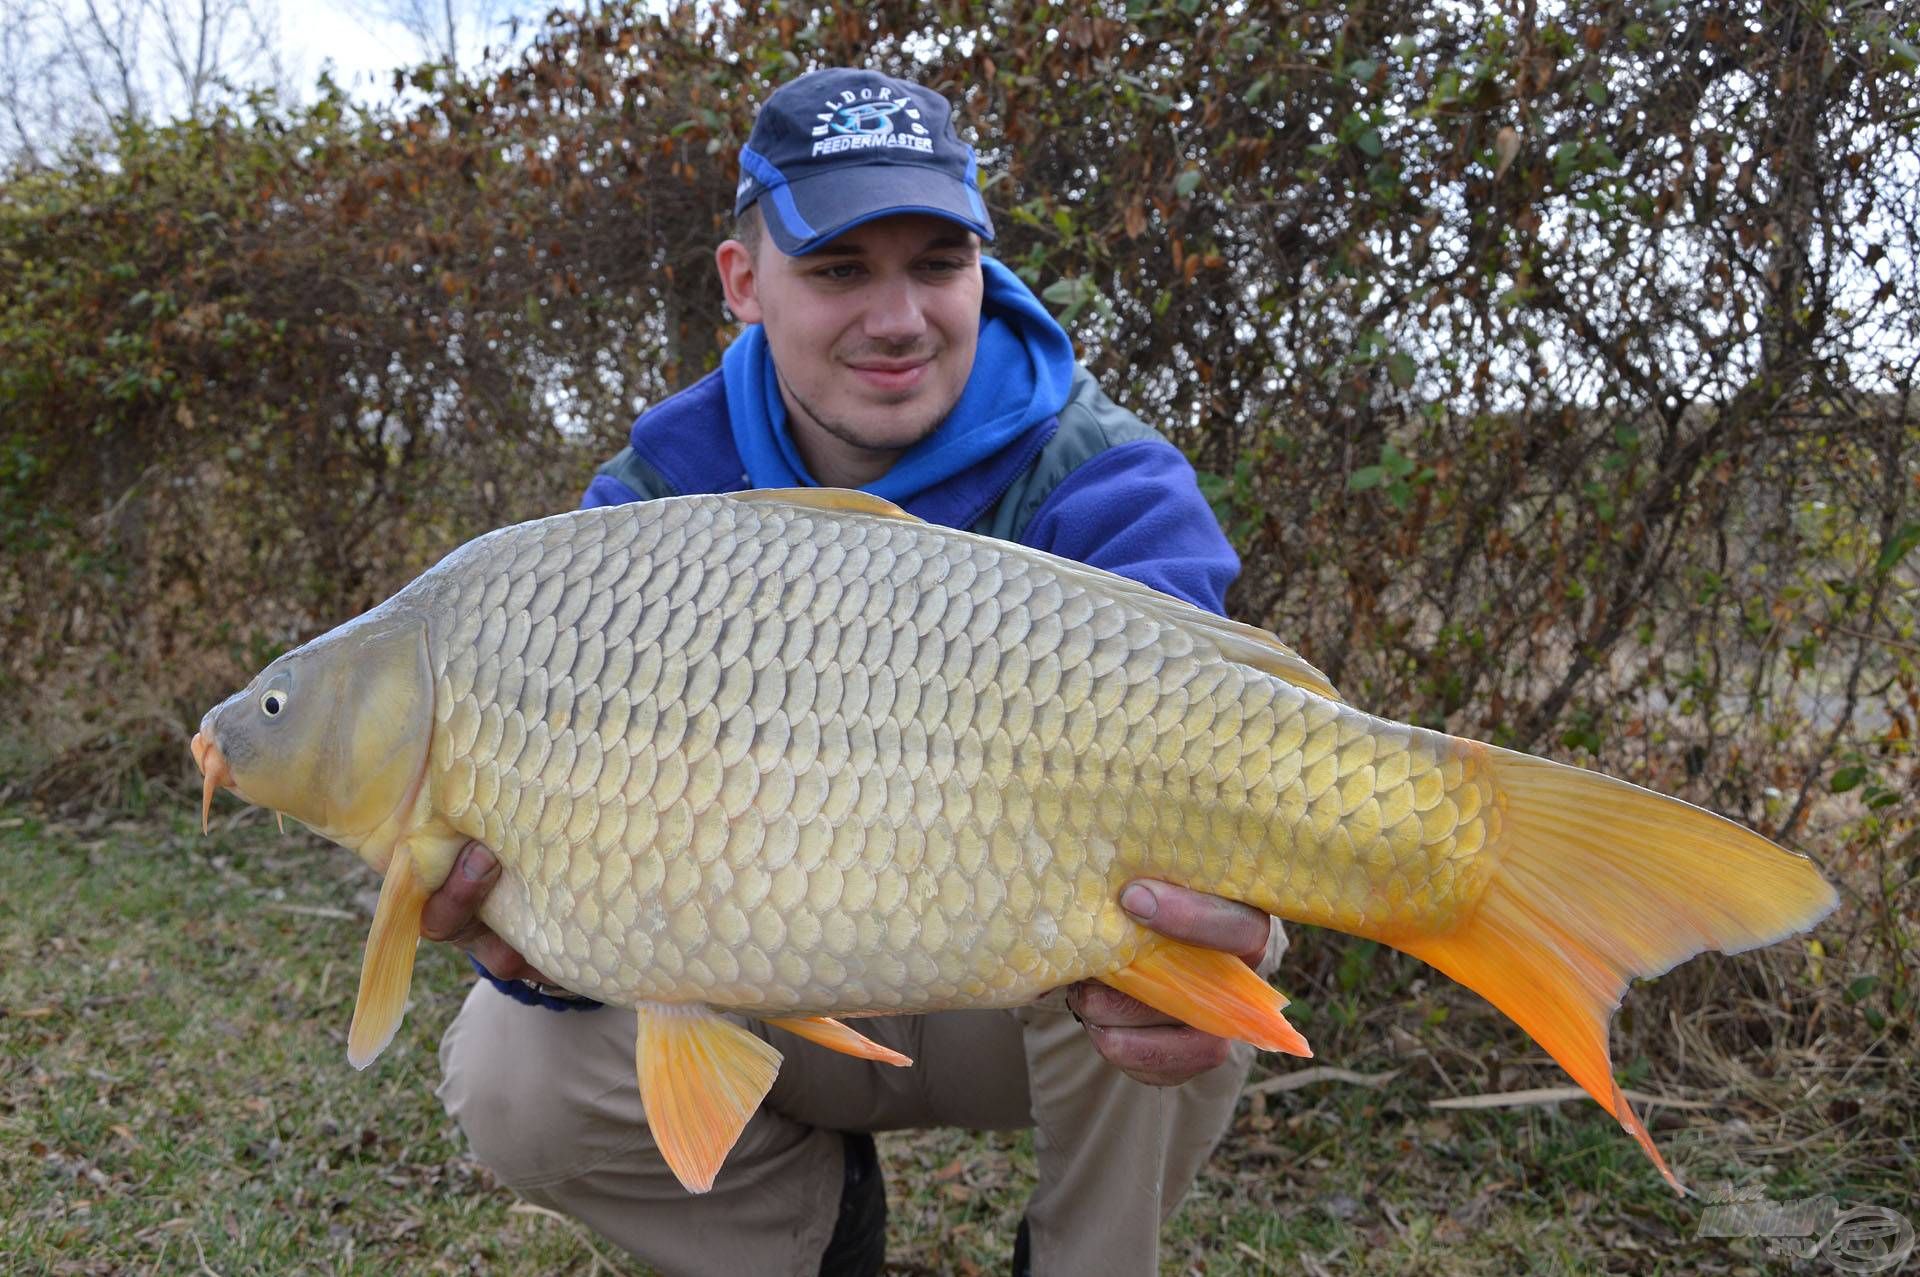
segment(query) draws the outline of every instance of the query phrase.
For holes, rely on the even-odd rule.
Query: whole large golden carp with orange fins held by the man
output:
[[[1308,1054],[1244,964],[1133,922],[1160,878],[1365,935],[1521,1024],[1661,1173],[1613,1081],[1634,977],[1805,929],[1805,858],[1676,799],[1365,714],[1273,636],[862,494],[501,528],[282,655],[194,737],[217,787],[384,874],[348,1056],[392,1041],[467,839],[482,920],[639,1012],[647,1120],[710,1187],[780,1052],[908,1064],[833,1016],[1102,979]]]

